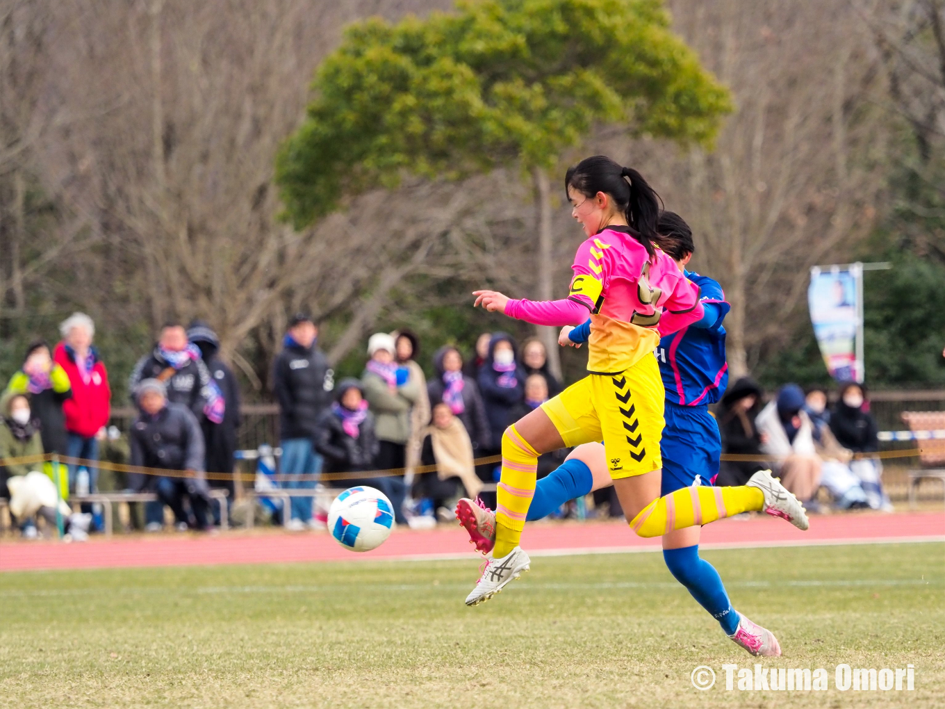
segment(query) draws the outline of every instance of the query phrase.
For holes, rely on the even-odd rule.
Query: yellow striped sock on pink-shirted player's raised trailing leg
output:
[[[662,537],[673,529],[707,525],[764,506],[765,495],[758,488],[694,485],[653,500],[633,518],[630,527],[641,537]]]

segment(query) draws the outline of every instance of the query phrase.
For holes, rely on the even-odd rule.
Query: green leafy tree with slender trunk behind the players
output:
[[[548,173],[567,148],[598,124],[710,145],[731,110],[659,0],[490,0],[369,19],[312,90],[276,161],[296,228],[404,173],[456,180],[514,164],[535,185],[541,299],[552,297]]]

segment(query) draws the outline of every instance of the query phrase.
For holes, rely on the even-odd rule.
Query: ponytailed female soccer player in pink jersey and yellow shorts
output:
[[[652,352],[660,341],[658,326],[668,334],[702,318],[699,289],[654,246],[660,199],[639,172],[597,155],[570,168],[564,183],[572,216],[588,237],[577,249],[568,297],[536,303],[477,290],[474,304],[558,327],[579,325],[590,312],[588,376],[506,429],[495,546],[467,605],[488,600],[528,569],[519,540],[538,457],[565,446],[604,441],[620,504],[640,536],[746,510],[765,510],[807,528],[803,507],[770,475],[743,487],[660,496],[664,389]]]

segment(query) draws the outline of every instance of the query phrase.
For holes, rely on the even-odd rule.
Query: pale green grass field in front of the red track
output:
[[[945,545],[704,556],[777,633],[763,665],[825,667],[829,691],[725,691],[723,664],[756,661],[641,553],[534,559],[472,609],[472,557],[4,574],[0,706],[945,706]],[[915,691],[838,691],[839,663],[911,663]]]

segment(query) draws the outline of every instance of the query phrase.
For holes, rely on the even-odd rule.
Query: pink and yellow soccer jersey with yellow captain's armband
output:
[[[663,318],[663,330],[676,330],[701,317],[698,286],[660,249],[650,259],[629,227],[608,227],[589,238],[572,269],[568,300],[591,310],[589,372],[624,372],[652,353]]]

